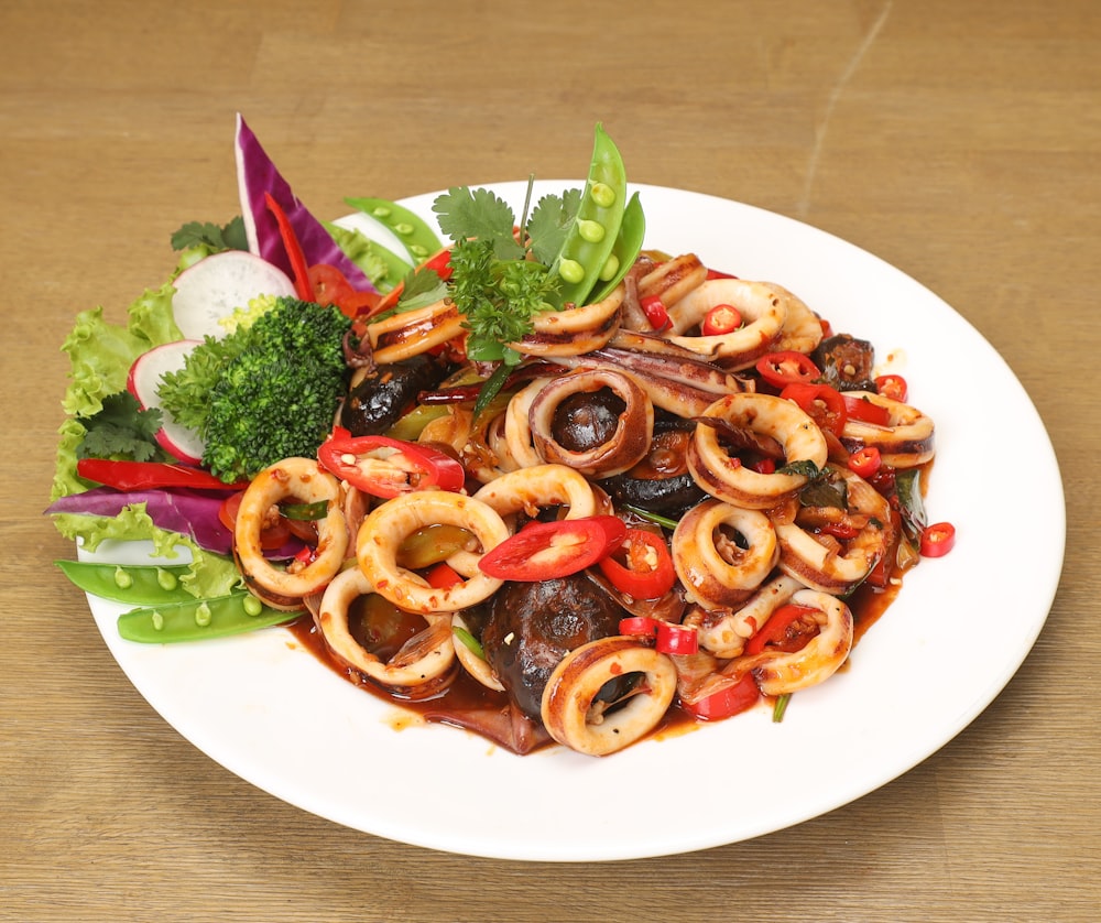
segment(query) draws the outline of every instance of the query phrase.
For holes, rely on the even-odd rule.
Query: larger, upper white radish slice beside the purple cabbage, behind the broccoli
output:
[[[294,297],[294,283],[279,267],[246,250],[212,253],[176,276],[172,315],[187,339],[221,339],[218,323],[258,295]]]

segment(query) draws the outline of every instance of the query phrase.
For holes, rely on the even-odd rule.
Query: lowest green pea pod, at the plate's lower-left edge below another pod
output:
[[[241,590],[214,599],[192,598],[186,602],[131,609],[119,616],[118,626],[119,636],[127,641],[170,644],[243,634],[293,621],[301,615],[301,611],[272,609],[251,593]]]

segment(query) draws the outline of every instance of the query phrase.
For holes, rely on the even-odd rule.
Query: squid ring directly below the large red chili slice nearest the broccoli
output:
[[[509,526],[491,507],[446,490],[403,493],[375,507],[363,521],[356,540],[360,569],[374,591],[397,608],[412,612],[456,612],[488,599],[503,583],[480,571],[464,574],[461,583],[436,588],[397,564],[397,550],[405,539],[426,525],[458,525],[473,533],[489,551],[509,537]],[[462,572],[460,572],[462,573]]]

